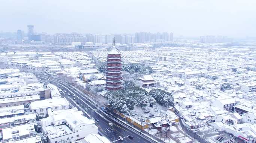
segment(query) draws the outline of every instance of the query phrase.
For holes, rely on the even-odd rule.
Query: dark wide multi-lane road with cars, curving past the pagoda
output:
[[[138,134],[137,132],[131,130],[130,128],[125,127],[123,124],[117,122],[116,120],[113,120],[113,118],[110,117],[110,115],[106,115],[101,111],[95,111],[99,109],[97,107],[97,104],[95,105],[92,100],[85,97],[84,93],[81,93],[80,91],[74,89],[72,86],[69,86],[60,80],[49,78],[41,74],[36,74],[36,76],[40,82],[43,82],[45,84],[48,84],[51,82],[52,84],[60,87],[60,89],[62,89],[63,91],[66,90],[66,92],[62,94],[63,97],[67,98],[67,100],[74,107],[77,107],[79,110],[82,110],[86,117],[88,118],[92,117],[94,119],[98,118],[99,119],[99,121],[97,122],[97,125],[99,127],[98,132],[104,135],[105,137],[107,137],[108,139],[110,139],[111,141],[119,139],[119,136],[125,137],[125,136],[131,135],[134,137],[133,140],[127,137],[124,139],[123,142],[156,143],[151,139],[145,139],[145,136],[142,136],[141,134]],[[68,96],[68,93],[70,94],[70,96]],[[75,100],[73,98],[75,98]],[[110,126],[109,123],[113,123],[113,125]],[[121,142],[121,141],[118,141],[118,142]]]

